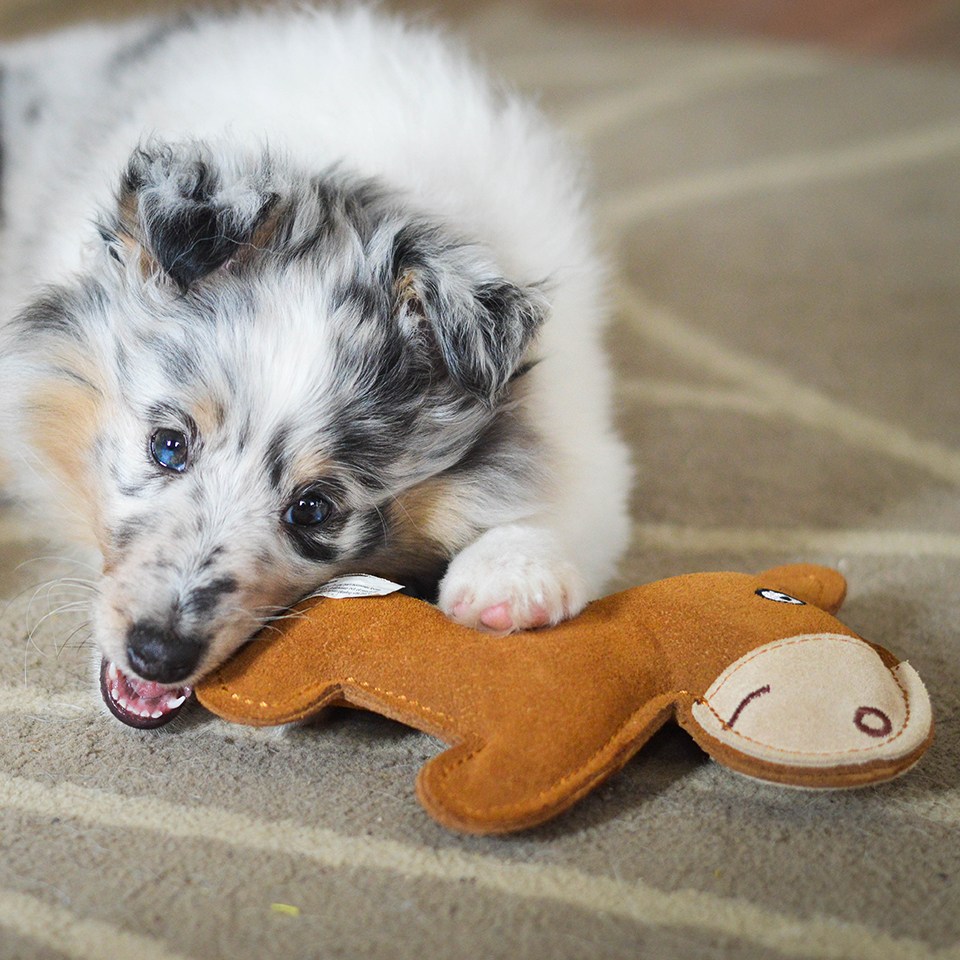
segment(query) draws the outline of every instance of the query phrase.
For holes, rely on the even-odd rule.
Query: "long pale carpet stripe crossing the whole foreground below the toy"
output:
[[[828,917],[796,919],[742,900],[692,890],[668,893],[560,866],[513,863],[369,836],[346,836],[292,821],[259,821],[209,806],[184,806],[153,797],[124,797],[71,783],[40,783],[0,774],[0,806],[40,818],[151,831],[183,840],[307,857],[334,869],[361,868],[404,877],[463,882],[510,897],[547,900],[610,914],[650,927],[692,929],[737,937],[785,956],[822,960],[960,960],[960,951],[935,951],[917,940]]]

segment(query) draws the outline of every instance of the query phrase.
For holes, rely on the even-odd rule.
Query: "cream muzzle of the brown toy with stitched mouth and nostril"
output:
[[[919,758],[933,729],[930,700],[906,662],[888,665],[843,634],[776,640],[727,667],[691,714],[709,753],[741,772],[781,783],[854,786],[866,770],[885,779]],[[732,753],[751,763],[731,762]],[[758,766],[759,762],[759,766]]]

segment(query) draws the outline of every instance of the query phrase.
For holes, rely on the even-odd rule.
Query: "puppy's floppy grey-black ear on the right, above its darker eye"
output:
[[[546,318],[537,286],[500,276],[476,247],[408,226],[393,245],[394,312],[467,393],[493,403],[525,366]]]

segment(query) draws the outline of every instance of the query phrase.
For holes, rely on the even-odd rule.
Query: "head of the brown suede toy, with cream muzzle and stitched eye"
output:
[[[693,588],[707,585],[709,609],[691,610]],[[659,630],[680,654],[677,719],[726,766],[793,786],[849,787],[896,776],[925,749],[923,684],[835,619],[846,593],[836,571],[698,574],[650,591],[686,608]]]

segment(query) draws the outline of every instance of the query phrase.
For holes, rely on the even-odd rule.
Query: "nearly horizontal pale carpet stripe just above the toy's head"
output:
[[[671,523],[638,523],[633,529],[637,542],[644,546],[692,553],[759,550],[778,554],[786,551],[960,559],[960,536],[949,533],[811,527],[688,527]]]

